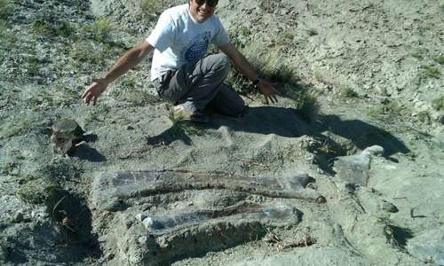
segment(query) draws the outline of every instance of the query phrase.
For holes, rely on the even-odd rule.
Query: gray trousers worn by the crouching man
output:
[[[224,83],[230,70],[231,62],[225,54],[210,55],[163,74],[155,80],[155,87],[159,96],[171,103],[201,112],[210,106],[219,113],[238,115],[245,111],[245,104],[241,96]]]

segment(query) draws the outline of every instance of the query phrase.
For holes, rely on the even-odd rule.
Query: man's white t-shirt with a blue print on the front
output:
[[[188,4],[182,4],[162,13],[147,42],[155,47],[151,66],[154,81],[168,70],[202,59],[210,43],[220,46],[230,39],[216,15],[199,23],[188,11]]]

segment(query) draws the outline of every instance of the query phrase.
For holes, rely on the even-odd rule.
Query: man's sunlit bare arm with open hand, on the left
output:
[[[139,64],[139,62],[144,59],[147,54],[153,51],[155,48],[144,41],[127,51],[120,59],[117,60],[115,65],[105,74],[103,78],[93,79],[92,84],[86,89],[82,98],[85,104],[88,106],[91,103],[96,104],[97,98],[100,94],[107,89],[109,83],[113,82],[119,76],[125,74],[132,67]]]

